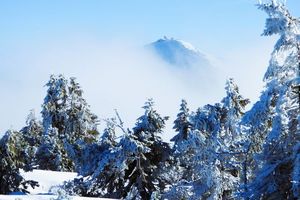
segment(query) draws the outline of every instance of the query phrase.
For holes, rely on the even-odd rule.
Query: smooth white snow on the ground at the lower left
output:
[[[69,181],[77,176],[73,172],[55,172],[46,170],[33,170],[32,172],[21,172],[26,180],[34,180],[39,182],[39,187],[32,189],[28,188],[30,194],[11,194],[0,195],[0,200],[56,200],[58,195],[51,191],[51,188],[62,184],[64,181]],[[91,198],[91,197],[69,197],[71,200],[101,200],[104,198]],[[62,199],[59,199],[62,200]]]

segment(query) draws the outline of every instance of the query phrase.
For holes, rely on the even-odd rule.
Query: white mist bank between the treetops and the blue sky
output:
[[[251,66],[246,64],[244,69],[236,70],[238,60],[244,58],[235,59],[236,62],[208,58],[212,60],[210,66],[180,69],[168,65],[135,40],[124,38],[40,41],[34,45],[19,45],[1,55],[0,70],[6,72],[0,75],[3,94],[0,109],[5,116],[0,122],[2,134],[7,129],[21,129],[31,109],[40,118],[47,90],[43,86],[50,74],[76,77],[92,112],[104,119],[113,117],[114,109],[117,109],[126,128],[134,126],[135,120],[144,112],[141,108],[144,102],[153,98],[158,113],[170,116],[162,136],[166,141],[175,135],[172,126],[181,99],[187,100],[191,110],[195,110],[219,102],[225,95],[226,78],[231,75],[238,76],[237,82],[243,87],[251,79],[249,74],[242,73]],[[242,89],[244,96],[247,93],[253,93],[251,97],[258,96],[259,87],[254,86],[253,91],[248,92]],[[100,125],[100,131],[104,125]]]

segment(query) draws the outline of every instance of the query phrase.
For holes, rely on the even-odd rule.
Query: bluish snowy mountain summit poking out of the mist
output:
[[[151,43],[150,48],[164,61],[178,67],[207,66],[209,61],[205,55],[193,45],[174,38],[159,39]]]

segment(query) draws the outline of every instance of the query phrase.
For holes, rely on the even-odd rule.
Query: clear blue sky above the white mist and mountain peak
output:
[[[255,0],[45,0],[1,1],[2,47],[72,36],[137,38],[141,44],[162,35],[189,40],[215,52],[239,46],[262,32],[265,15]],[[300,2],[288,6],[300,16]]]

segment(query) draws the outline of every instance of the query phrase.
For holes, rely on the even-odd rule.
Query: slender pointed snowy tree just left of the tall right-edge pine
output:
[[[244,179],[245,150],[242,146],[244,137],[240,134],[239,126],[250,100],[240,94],[233,78],[227,80],[225,91],[220,116],[221,130],[218,135],[218,159],[221,161],[221,171],[227,178],[225,182],[230,185],[227,187],[227,195],[232,198],[240,190],[240,182]]]

